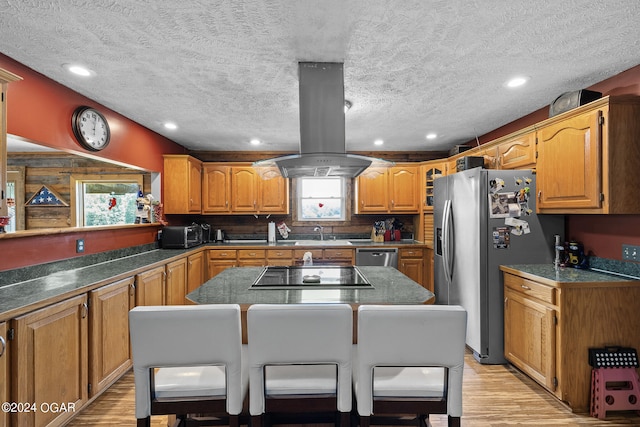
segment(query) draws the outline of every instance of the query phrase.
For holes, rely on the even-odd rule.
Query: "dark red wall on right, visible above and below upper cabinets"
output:
[[[640,65],[589,88],[603,95],[639,95]],[[480,143],[492,141],[549,117],[549,108],[533,113],[479,137]],[[640,120],[640,117],[638,118]],[[638,141],[640,144],[640,141]],[[475,141],[468,144],[475,145]],[[635,197],[631,195],[631,197]],[[640,246],[640,215],[567,215],[566,240],[578,240],[585,250],[601,258],[622,259],[622,245]]]

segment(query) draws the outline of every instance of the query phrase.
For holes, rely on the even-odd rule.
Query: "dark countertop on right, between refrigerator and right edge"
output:
[[[518,273],[523,277],[544,283],[555,284],[598,284],[598,283],[634,283],[638,279],[621,276],[615,272],[594,271],[572,267],[555,268],[552,264],[514,264],[500,266],[502,271]]]

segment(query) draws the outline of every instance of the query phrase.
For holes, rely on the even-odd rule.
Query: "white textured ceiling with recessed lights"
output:
[[[639,22],[638,0],[0,0],[0,52],[206,151],[297,151],[297,62],[344,62],[348,151],[439,151],[637,65]]]

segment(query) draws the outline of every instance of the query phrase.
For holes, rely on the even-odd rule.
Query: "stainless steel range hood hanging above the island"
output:
[[[343,64],[299,62],[300,154],[276,157],[253,164],[263,178],[310,176],[356,177],[372,164],[392,162],[347,154],[344,126]]]

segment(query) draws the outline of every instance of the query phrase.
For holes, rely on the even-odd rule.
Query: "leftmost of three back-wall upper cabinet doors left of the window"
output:
[[[219,163],[204,163],[202,167],[202,213],[231,211],[231,168]]]

